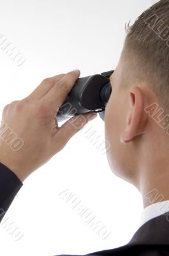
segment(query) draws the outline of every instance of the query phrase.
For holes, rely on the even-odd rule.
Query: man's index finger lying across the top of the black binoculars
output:
[[[57,81],[45,97],[41,99],[45,107],[53,109],[54,113],[57,112],[79,76],[80,70],[73,70]]]

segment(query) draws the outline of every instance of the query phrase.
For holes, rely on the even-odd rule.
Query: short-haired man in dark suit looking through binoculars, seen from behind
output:
[[[169,255],[168,67],[169,0],[161,0],[128,26],[105,112],[108,163],[142,193],[142,225],[128,244],[90,255]],[[31,95],[5,106],[1,135],[10,127],[17,137],[12,144],[8,136],[0,140],[1,220],[22,182],[96,116],[74,116],[62,127],[55,121],[79,76],[74,70],[45,79]]]

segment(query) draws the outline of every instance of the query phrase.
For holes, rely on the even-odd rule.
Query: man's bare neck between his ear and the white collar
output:
[[[168,142],[169,136],[161,132],[161,127],[156,130],[155,124],[134,148],[138,156],[135,157],[135,186],[142,194],[143,208],[169,200]]]

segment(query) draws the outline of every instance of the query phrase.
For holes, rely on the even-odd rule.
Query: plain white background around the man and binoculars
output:
[[[154,2],[1,0],[0,34],[24,54],[26,62],[17,67],[0,50],[0,110],[26,97],[45,77],[75,68],[81,70],[81,77],[114,69],[125,23],[132,23]],[[89,125],[104,139],[99,116]],[[95,234],[59,197],[68,188],[107,225],[111,231],[107,239]],[[83,254],[115,248],[131,239],[141,212],[138,191],[115,177],[107,157],[79,132],[24,181],[6,214],[24,237],[15,241],[0,224],[0,254]]]

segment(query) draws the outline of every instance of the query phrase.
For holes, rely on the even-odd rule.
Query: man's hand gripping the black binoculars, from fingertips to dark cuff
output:
[[[79,76],[80,71],[74,70],[47,78],[28,97],[4,107],[0,127],[0,162],[10,168],[21,181],[47,163],[96,116],[94,113],[74,116],[58,127],[55,119],[57,111]],[[10,129],[4,132],[6,125]],[[10,131],[23,142],[19,150],[10,147]]]

